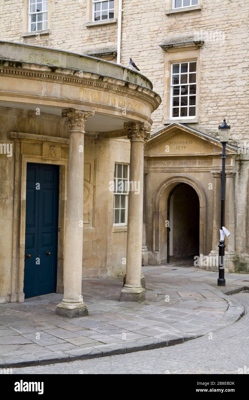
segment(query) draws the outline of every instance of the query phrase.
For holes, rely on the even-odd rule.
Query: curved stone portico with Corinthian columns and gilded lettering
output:
[[[161,99],[142,74],[82,54],[0,41],[0,63],[0,141],[13,150],[10,157],[1,154],[0,302],[23,302],[25,296],[27,166],[52,165],[59,168],[56,291],[64,292],[56,312],[86,315],[82,276],[123,274],[123,258],[135,251],[139,260],[127,264],[127,285],[141,286],[143,141]],[[132,139],[131,126],[139,126],[141,138]],[[139,200],[139,245],[134,250],[128,240],[127,255],[126,231],[131,237],[134,222],[113,226],[110,182],[117,162],[130,164],[130,180],[141,181],[140,194],[129,193],[130,204]]]

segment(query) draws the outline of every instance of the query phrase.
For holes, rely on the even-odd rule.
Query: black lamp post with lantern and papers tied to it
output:
[[[225,223],[225,163],[226,163],[226,144],[229,140],[230,125],[227,125],[225,118],[223,124],[219,125],[219,137],[222,143],[222,173],[221,173],[221,230]],[[219,278],[217,280],[218,286],[226,286],[225,280],[225,233],[220,237],[219,241]]]

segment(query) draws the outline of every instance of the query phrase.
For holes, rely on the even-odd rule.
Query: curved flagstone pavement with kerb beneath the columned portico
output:
[[[122,278],[83,280],[89,317],[55,314],[61,294],[0,305],[0,367],[21,367],[171,346],[216,332],[244,313],[227,294],[248,288],[248,274],[226,274],[177,261],[143,268],[146,304],[119,302]]]

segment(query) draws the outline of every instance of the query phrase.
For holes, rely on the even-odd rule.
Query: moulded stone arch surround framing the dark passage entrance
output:
[[[186,183],[191,186],[199,197],[200,204],[200,226],[199,226],[199,252],[206,254],[206,198],[203,187],[195,179],[175,175],[167,178],[158,186],[153,198],[153,258],[160,264],[167,258],[167,198],[171,190],[179,183]]]

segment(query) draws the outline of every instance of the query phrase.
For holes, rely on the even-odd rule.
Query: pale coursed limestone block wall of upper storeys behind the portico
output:
[[[117,47],[117,23],[85,26],[91,0],[50,0],[50,33],[22,36],[27,31],[28,0],[0,0],[0,39],[89,53]],[[224,116],[231,138],[248,140],[249,46],[247,0],[199,0],[201,10],[165,15],[170,0],[123,0],[121,63],[129,57],[163,98],[153,113],[153,130],[162,126],[168,93],[165,50],[159,44],[203,40],[200,58],[200,114],[194,128],[217,134]],[[115,1],[117,16],[118,0]],[[179,50],[181,52],[181,50]],[[175,60],[179,54],[175,53]]]

